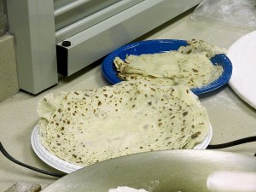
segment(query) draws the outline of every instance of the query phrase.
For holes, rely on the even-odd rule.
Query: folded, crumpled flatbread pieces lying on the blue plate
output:
[[[177,50],[143,55],[127,55],[125,60],[116,57],[117,75],[123,80],[146,80],[154,84],[185,84],[189,88],[212,83],[223,73],[218,63],[212,65],[214,55],[225,54],[226,49],[191,40]]]

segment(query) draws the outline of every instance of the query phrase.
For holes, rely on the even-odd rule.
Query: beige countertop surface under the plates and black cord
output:
[[[144,35],[139,40],[153,38],[202,39],[209,44],[228,49],[238,38],[255,28],[218,26],[190,19],[190,12],[180,15],[163,26]],[[58,172],[46,165],[33,152],[31,145],[32,129],[38,122],[36,108],[38,101],[49,93],[61,90],[94,89],[108,85],[102,77],[101,63],[86,67],[72,77],[61,79],[55,87],[44,91],[38,96],[32,96],[20,91],[5,102],[0,103],[0,141],[4,148],[15,159],[30,166]],[[243,102],[229,86],[210,96],[201,98],[201,103],[207,108],[212,122],[213,136],[211,144],[226,143],[242,137],[256,136],[256,110]],[[255,143],[247,143],[224,151],[253,155],[256,153]],[[0,154],[0,189],[4,191],[16,182],[41,184],[44,188],[55,182],[56,177],[45,176],[24,167],[15,165]]]

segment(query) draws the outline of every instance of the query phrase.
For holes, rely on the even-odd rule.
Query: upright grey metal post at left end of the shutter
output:
[[[32,94],[58,83],[52,0],[8,0],[19,87]]]

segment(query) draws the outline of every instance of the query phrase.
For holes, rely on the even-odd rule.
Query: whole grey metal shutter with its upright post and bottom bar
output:
[[[201,0],[8,0],[21,90],[37,94]]]

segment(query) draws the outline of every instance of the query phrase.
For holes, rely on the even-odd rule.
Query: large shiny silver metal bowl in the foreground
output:
[[[207,191],[220,170],[256,172],[256,157],[211,150],[166,150],[106,160],[61,177],[43,192],[108,192],[118,186],[150,192]]]

